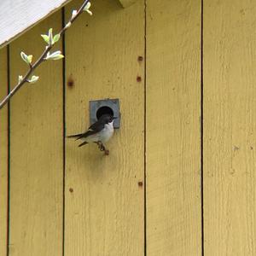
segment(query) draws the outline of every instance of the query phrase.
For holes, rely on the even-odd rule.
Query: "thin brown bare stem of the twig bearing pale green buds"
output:
[[[76,15],[74,15],[70,20],[67,21],[67,24],[70,22],[70,24],[73,23],[74,20],[76,20],[79,15],[83,12],[84,7],[86,6],[86,4],[90,2],[90,0],[85,0],[84,3],[81,5],[81,7],[79,8],[78,12]],[[59,32],[60,36],[67,30],[69,26],[64,26],[62,27],[61,31]],[[9,95],[6,96],[3,101],[0,103],[0,109],[3,108],[3,106],[9,102],[10,98],[12,96],[15,95],[15,93],[20,89],[20,87],[23,84],[26,84],[28,82],[28,78],[30,77],[30,75],[34,72],[34,70],[42,63],[44,62],[44,58],[45,56],[49,53],[49,50],[52,49],[54,44],[50,44],[48,45],[45,49],[44,52],[42,53],[42,55],[38,58],[37,61],[35,61],[35,63],[33,65],[30,66],[30,69],[27,71],[26,75],[20,80],[20,82],[18,84],[15,85],[15,88],[13,90],[11,90],[9,92]]]

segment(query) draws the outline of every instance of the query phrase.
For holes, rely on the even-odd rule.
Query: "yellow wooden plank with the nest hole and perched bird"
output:
[[[67,140],[65,254],[143,255],[143,0],[128,9],[99,0],[92,11],[67,32],[67,135],[89,126],[90,100],[119,98],[122,119],[109,156]]]

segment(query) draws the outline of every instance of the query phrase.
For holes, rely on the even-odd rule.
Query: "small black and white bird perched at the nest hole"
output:
[[[88,143],[96,143],[101,151],[105,154],[109,154],[109,150],[105,148],[103,143],[107,143],[108,140],[113,136],[113,117],[112,114],[105,113],[90,127],[87,131],[79,134],[73,134],[67,136],[67,138],[75,138],[76,140],[82,140],[83,143],[79,144],[82,147]]]

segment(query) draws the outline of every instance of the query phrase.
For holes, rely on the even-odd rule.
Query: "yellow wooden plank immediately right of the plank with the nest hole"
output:
[[[201,255],[201,1],[147,4],[147,255]]]

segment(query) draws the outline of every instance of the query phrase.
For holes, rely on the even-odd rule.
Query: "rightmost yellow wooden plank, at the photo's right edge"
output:
[[[206,255],[256,255],[256,3],[204,1]]]

